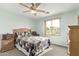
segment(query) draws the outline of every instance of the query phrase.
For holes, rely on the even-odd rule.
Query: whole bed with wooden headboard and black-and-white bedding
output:
[[[37,56],[50,47],[48,37],[32,36],[31,29],[14,29],[15,47],[27,56]]]

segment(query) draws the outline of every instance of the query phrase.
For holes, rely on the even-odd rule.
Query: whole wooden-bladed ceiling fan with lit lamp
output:
[[[19,4],[29,9],[24,12],[31,12],[34,15],[37,15],[37,12],[49,14],[48,11],[38,9],[38,7],[40,6],[40,3],[30,3],[31,6],[27,6],[26,4],[23,4],[23,3],[19,3]]]

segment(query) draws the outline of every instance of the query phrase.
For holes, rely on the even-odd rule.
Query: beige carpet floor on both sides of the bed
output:
[[[51,50],[44,53],[43,56],[67,56],[67,48],[51,45]],[[13,49],[4,53],[0,53],[0,56],[25,56],[22,52],[17,49]]]

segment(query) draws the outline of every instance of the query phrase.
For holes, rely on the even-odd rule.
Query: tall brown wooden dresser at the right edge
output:
[[[79,26],[69,26],[68,54],[79,56]]]

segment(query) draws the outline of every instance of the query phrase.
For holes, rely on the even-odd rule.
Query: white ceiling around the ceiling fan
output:
[[[0,3],[0,9],[12,13],[21,14],[29,18],[38,19],[49,15],[54,15],[57,13],[63,13],[79,9],[79,3],[41,3],[39,9],[49,11],[50,14],[38,13],[37,16],[34,16],[33,14],[27,12],[23,13],[23,11],[27,10],[27,8],[19,5],[18,3]]]

